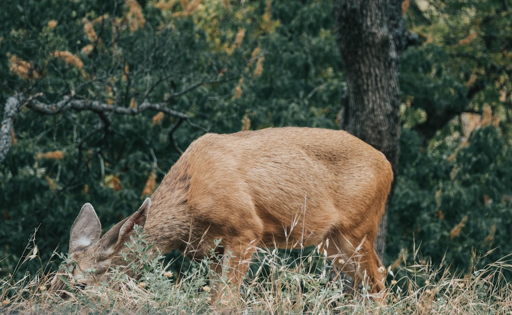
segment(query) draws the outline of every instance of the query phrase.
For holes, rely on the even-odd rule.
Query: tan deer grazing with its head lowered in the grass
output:
[[[209,273],[212,304],[236,300],[258,246],[323,246],[334,266],[378,294],[385,269],[374,240],[392,181],[385,155],[343,130],[206,133],[103,236],[94,208],[83,205],[70,230],[72,281],[95,285],[122,265],[119,253],[138,225],[161,253],[218,254]],[[59,281],[55,276],[52,287]]]

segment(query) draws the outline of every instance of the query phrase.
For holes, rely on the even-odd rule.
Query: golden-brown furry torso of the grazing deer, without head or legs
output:
[[[345,131],[209,133],[194,141],[164,178],[148,220],[159,200],[183,195],[186,207],[179,211],[212,233],[245,229],[265,243],[284,242],[285,234],[315,243],[334,228],[366,224],[365,211],[376,211],[371,204],[386,199],[391,181],[383,154]]]

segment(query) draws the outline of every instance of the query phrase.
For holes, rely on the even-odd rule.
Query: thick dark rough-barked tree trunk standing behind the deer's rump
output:
[[[334,16],[347,76],[340,125],[384,153],[396,178],[400,137],[398,67],[407,40],[401,1],[335,0]],[[392,194],[393,188],[389,199]],[[382,263],[386,226],[387,209],[375,239]]]

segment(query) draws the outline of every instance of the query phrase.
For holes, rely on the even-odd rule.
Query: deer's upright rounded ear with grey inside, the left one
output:
[[[70,231],[69,253],[86,249],[98,241],[101,223],[91,204],[83,205]]]

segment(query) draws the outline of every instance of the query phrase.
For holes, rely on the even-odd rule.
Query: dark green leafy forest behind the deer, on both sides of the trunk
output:
[[[400,63],[387,265],[418,251],[464,270],[512,252],[510,5],[402,3],[419,40]],[[36,229],[42,260],[67,252],[84,202],[103,228],[134,212],[206,132],[339,128],[347,86],[330,2],[1,6],[0,111],[13,119],[0,155],[0,277],[30,254]]]

